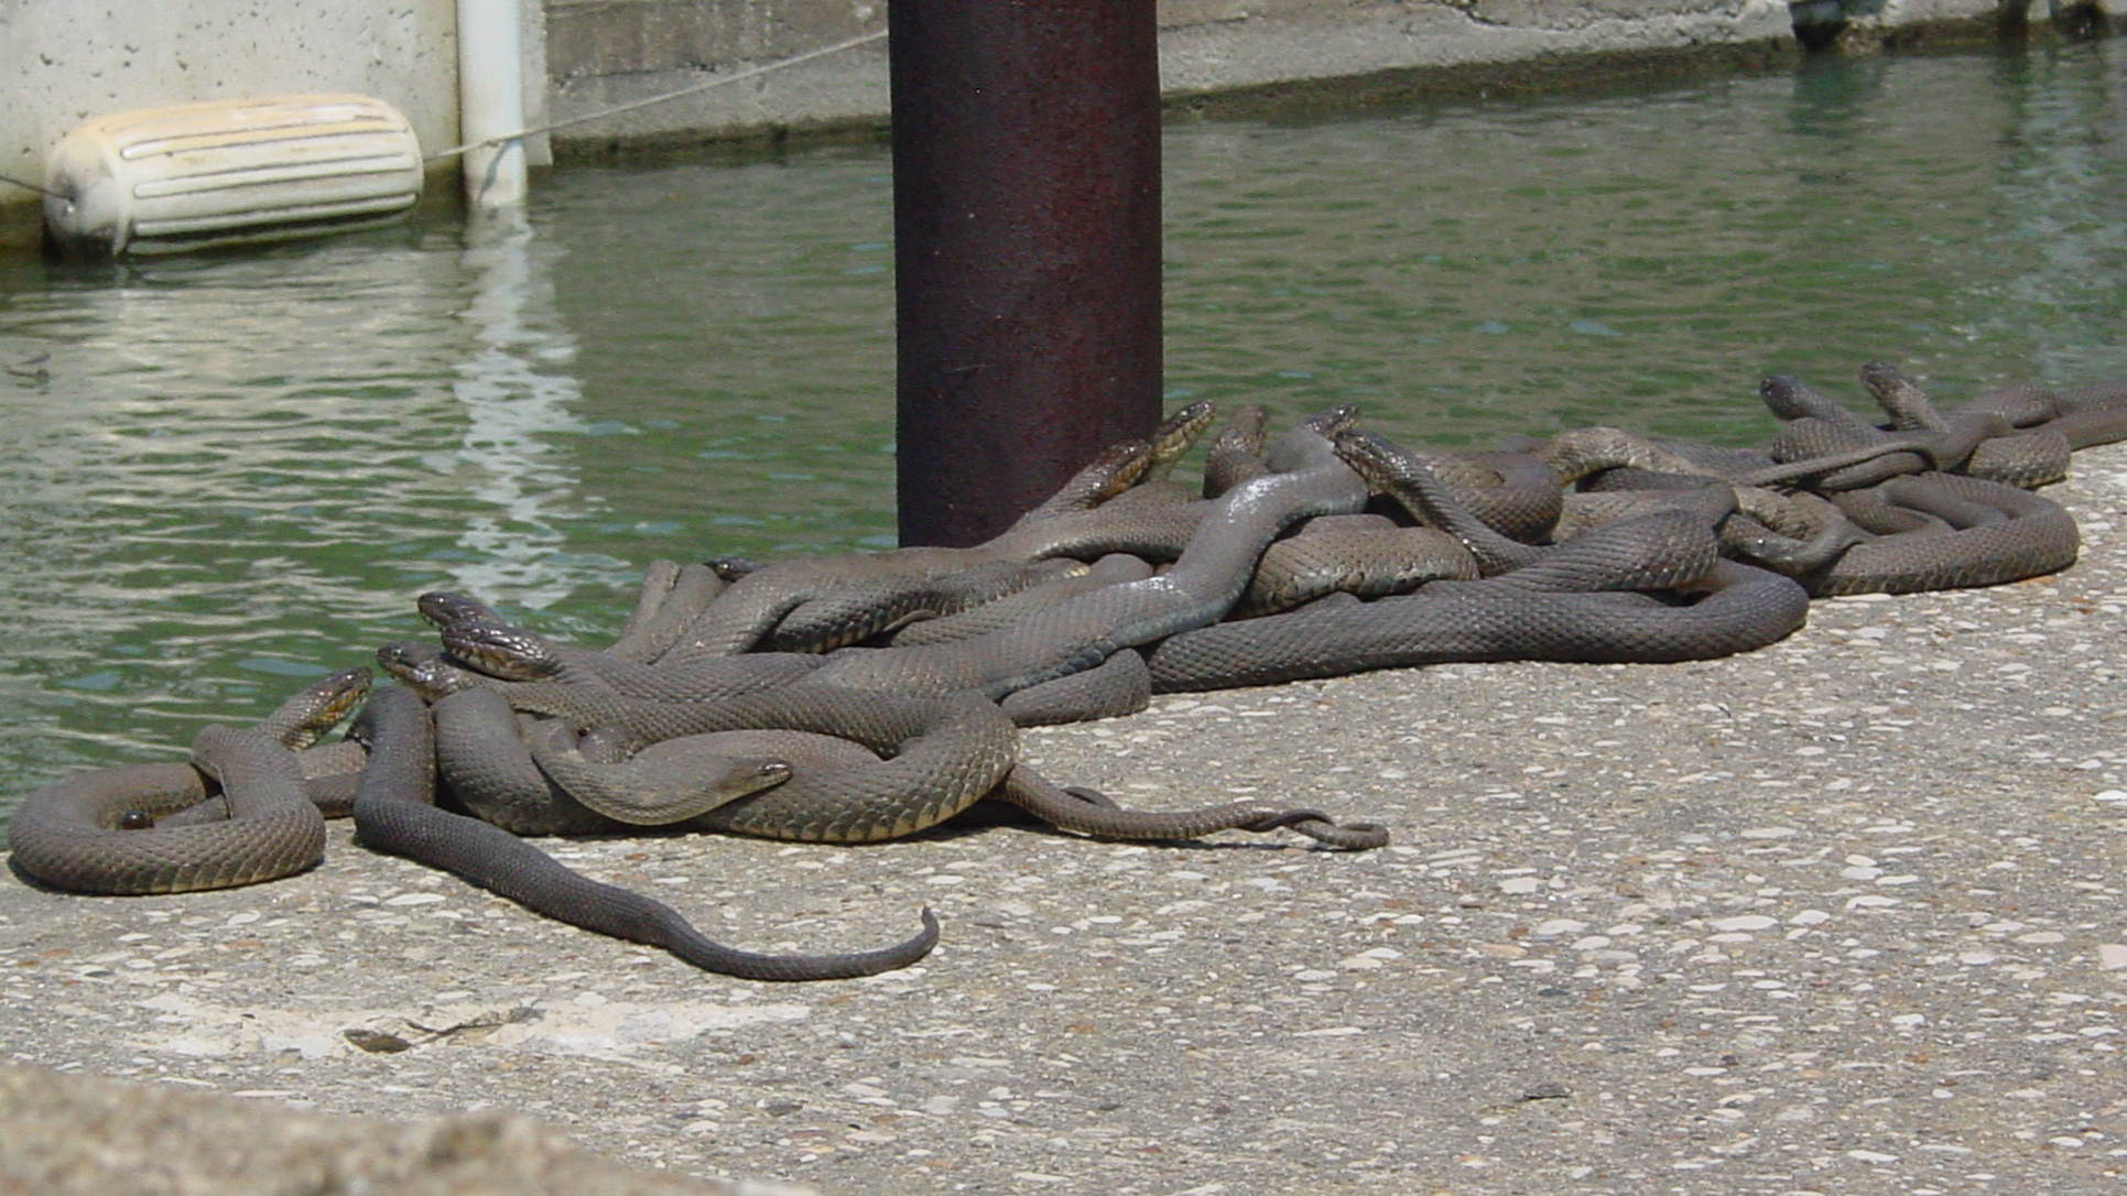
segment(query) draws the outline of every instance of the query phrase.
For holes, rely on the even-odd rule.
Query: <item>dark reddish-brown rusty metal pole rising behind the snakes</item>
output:
[[[1153,0],[891,0],[900,538],[972,545],[1159,421]]]

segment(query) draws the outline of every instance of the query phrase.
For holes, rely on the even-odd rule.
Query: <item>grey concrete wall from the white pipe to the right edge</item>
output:
[[[1193,109],[1561,85],[1591,72],[1763,62],[1812,43],[1853,51],[1919,38],[1995,36],[2006,4],[2087,13],[2127,0],[1161,0],[1161,79]],[[2084,15],[2078,15],[2084,13]],[[555,119],[698,87],[885,30],[885,0],[547,0]],[[706,140],[883,128],[885,43],[730,87],[698,92],[555,134],[570,155],[698,147]]]

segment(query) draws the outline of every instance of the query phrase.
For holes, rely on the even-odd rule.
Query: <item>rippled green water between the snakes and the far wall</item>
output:
[[[2127,43],[1166,138],[1168,389],[1397,438],[1761,443],[2127,375]],[[0,815],[172,760],[459,589],[596,638],[642,566],[891,547],[885,149],[572,168],[530,236],[0,260]]]

